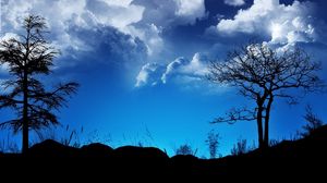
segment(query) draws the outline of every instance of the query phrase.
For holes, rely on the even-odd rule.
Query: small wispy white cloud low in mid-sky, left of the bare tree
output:
[[[219,95],[229,90],[228,85],[217,85],[205,80],[208,74],[208,59],[195,53],[192,60],[179,57],[166,65],[146,63],[136,76],[135,87],[174,84],[185,91],[197,90],[204,95]]]

